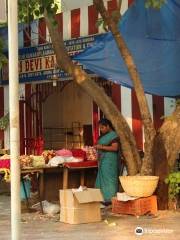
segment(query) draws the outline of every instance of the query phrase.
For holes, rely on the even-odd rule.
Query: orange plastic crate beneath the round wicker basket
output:
[[[118,201],[112,198],[112,212],[119,214],[131,214],[141,216],[146,213],[157,213],[157,197],[155,195],[145,198],[138,198],[131,201]]]

